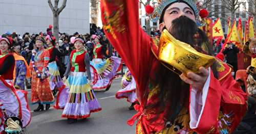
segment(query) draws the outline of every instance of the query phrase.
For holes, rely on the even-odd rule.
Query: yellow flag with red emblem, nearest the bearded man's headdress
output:
[[[224,37],[220,18],[218,18],[215,21],[214,26],[212,26],[212,37],[213,38],[223,38]]]

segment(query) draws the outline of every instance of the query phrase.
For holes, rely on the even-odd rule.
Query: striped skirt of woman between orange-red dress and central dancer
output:
[[[49,68],[48,78],[49,78],[49,84],[50,84],[51,90],[54,90],[54,88],[61,88],[64,84],[61,81],[61,77],[59,74],[56,61],[49,63],[48,68]]]

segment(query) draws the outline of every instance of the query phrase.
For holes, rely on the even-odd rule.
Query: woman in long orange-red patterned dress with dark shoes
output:
[[[35,40],[36,48],[32,50],[30,70],[32,72],[31,82],[31,101],[33,104],[38,103],[35,112],[43,111],[46,104],[46,110],[49,110],[50,104],[53,103],[54,97],[50,89],[47,78],[49,51],[44,49],[45,39],[37,36]]]

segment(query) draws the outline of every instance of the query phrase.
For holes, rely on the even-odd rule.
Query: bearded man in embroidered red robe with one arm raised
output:
[[[231,76],[231,68],[216,59],[209,68],[198,67],[198,73],[177,75],[159,59],[169,55],[163,49],[172,49],[166,48],[165,43],[173,38],[162,39],[163,33],[181,41],[180,45],[189,44],[188,49],[212,54],[205,33],[197,27],[199,11],[194,1],[158,2],[150,16],[153,21],[159,20],[162,44],[142,30],[138,6],[138,0],[101,0],[104,33],[137,84],[138,113],[127,123],[133,125],[138,120],[136,133],[146,134],[232,133],[247,104],[246,94]],[[182,54],[178,52],[181,51],[174,55]],[[190,58],[197,59],[188,55],[176,60]]]

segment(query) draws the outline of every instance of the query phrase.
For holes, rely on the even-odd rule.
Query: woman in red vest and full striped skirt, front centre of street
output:
[[[75,50],[70,55],[70,64],[62,78],[63,82],[67,80],[65,84],[70,89],[62,113],[62,117],[68,118],[69,123],[74,123],[77,119],[88,118],[92,112],[101,111],[101,106],[92,90],[90,57],[84,50],[83,39],[75,38],[74,46]]]

